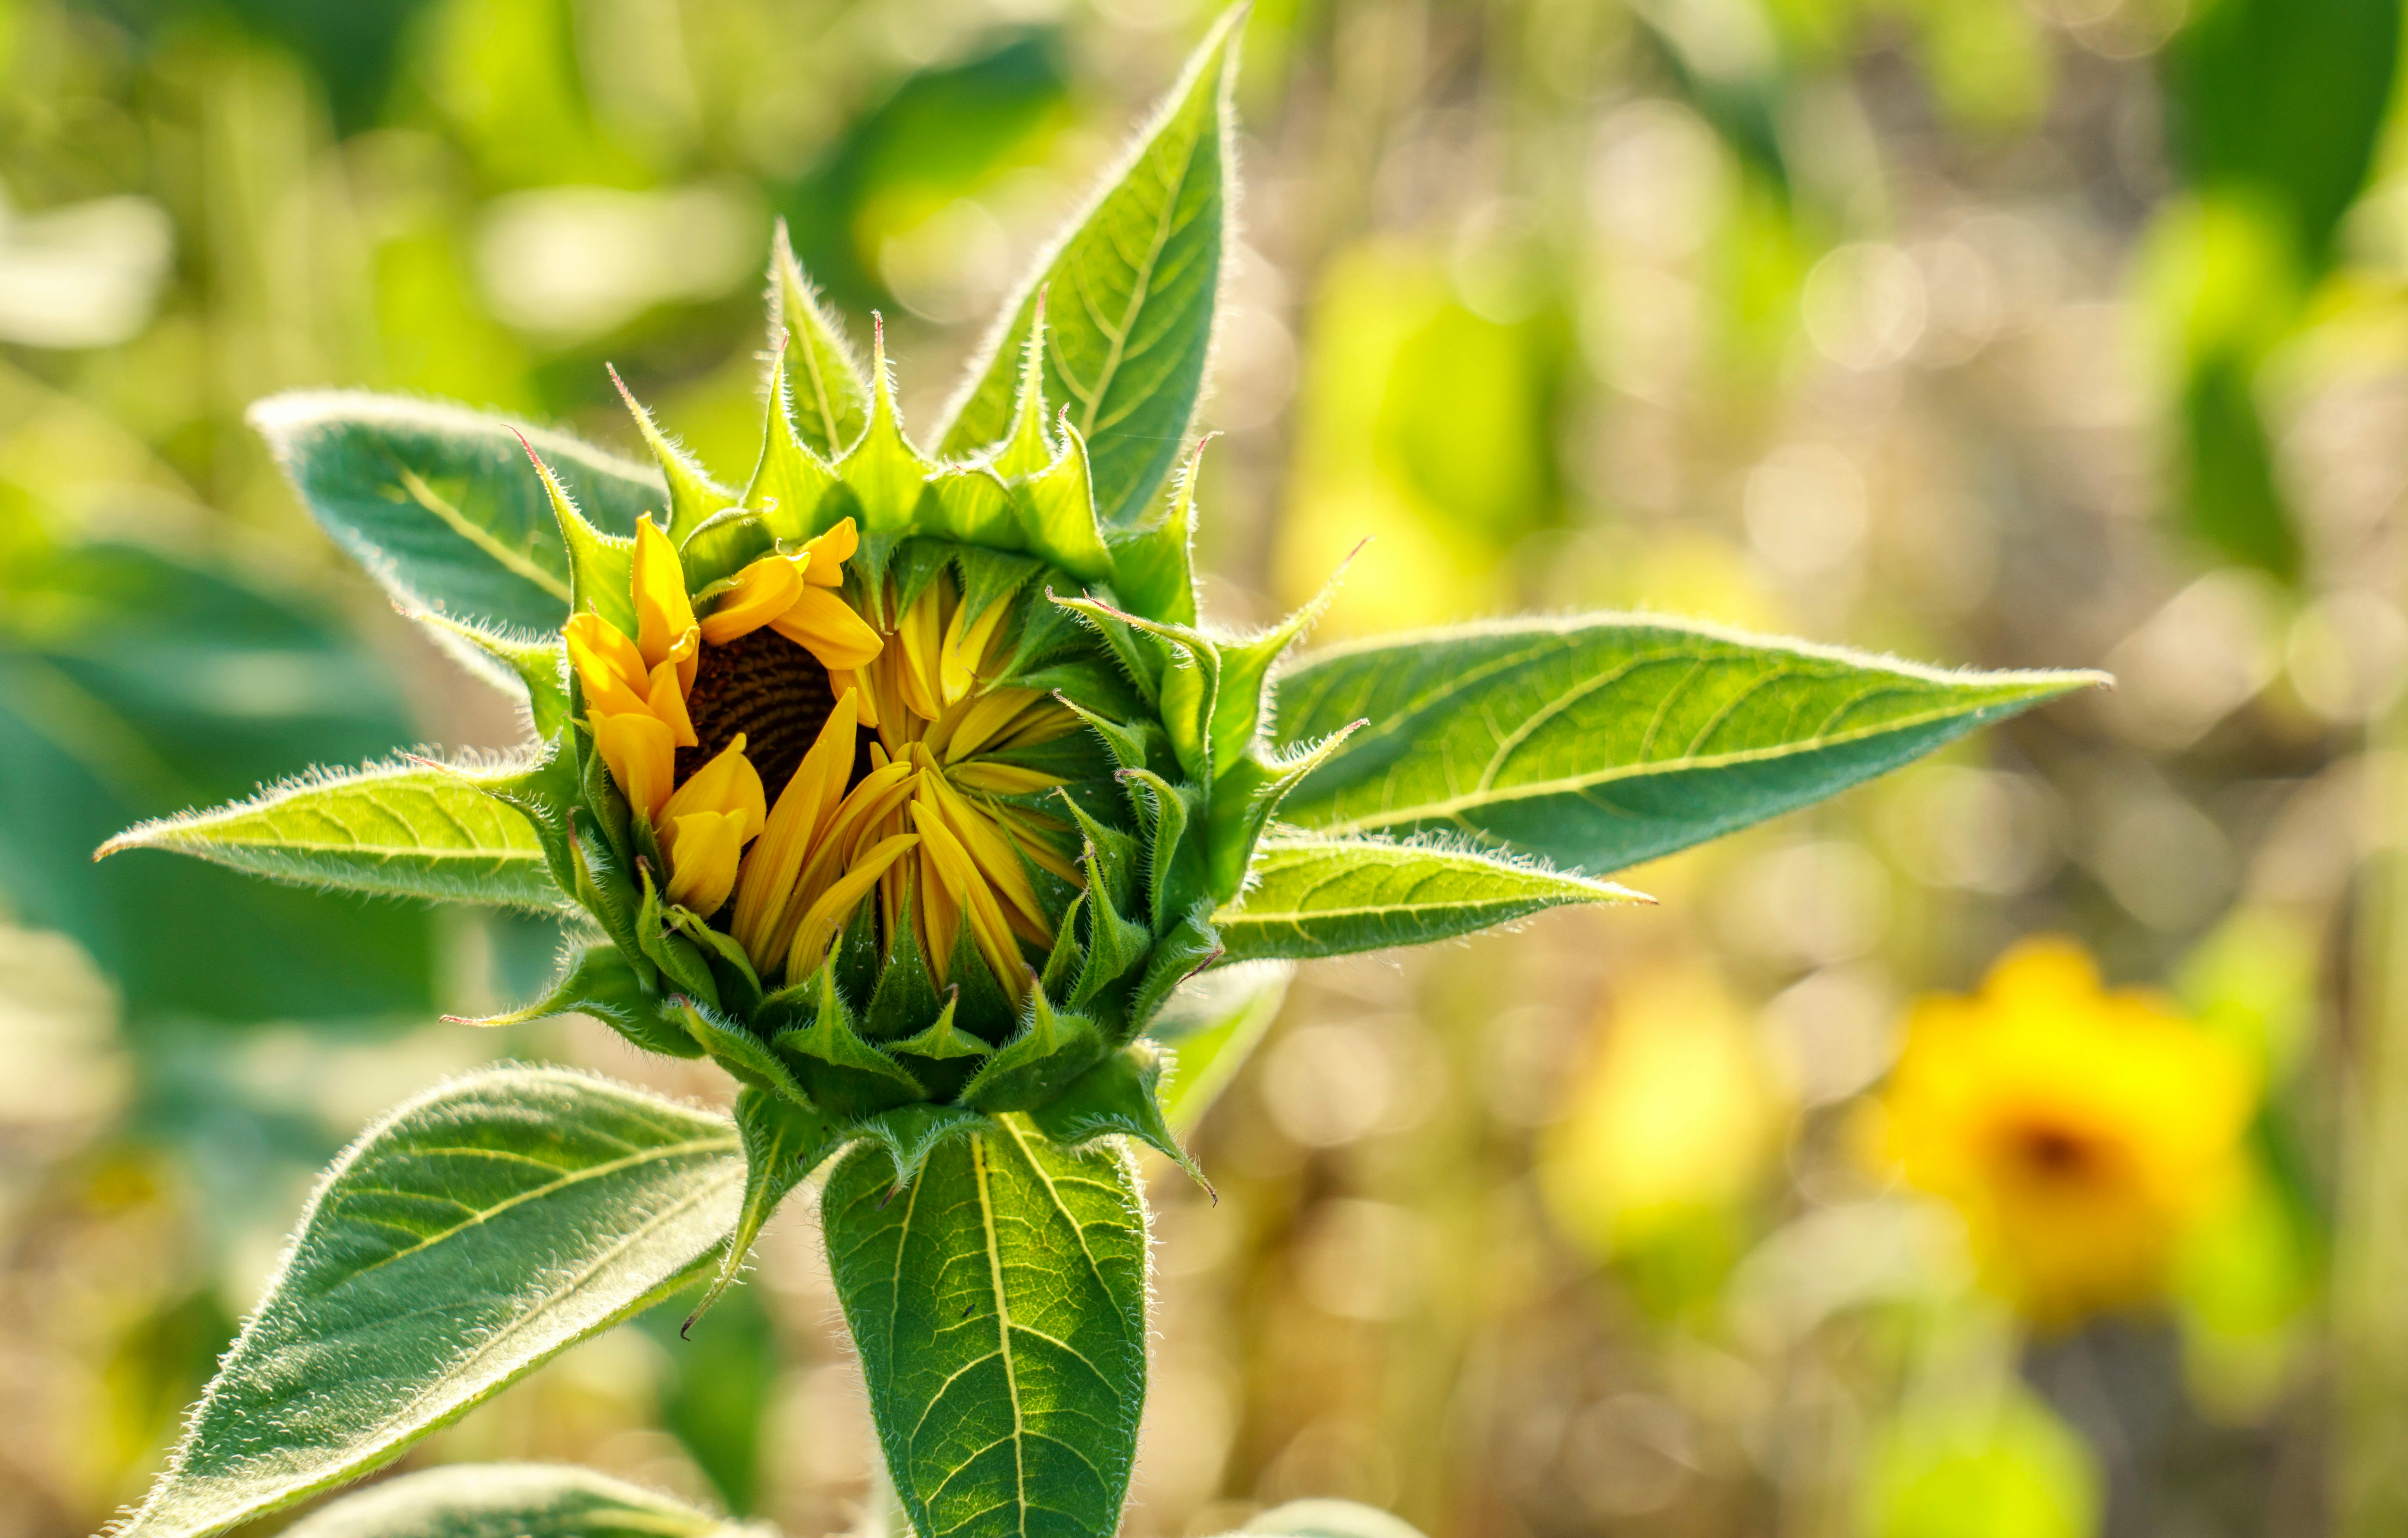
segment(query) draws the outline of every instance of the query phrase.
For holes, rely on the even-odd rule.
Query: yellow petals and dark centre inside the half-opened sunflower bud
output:
[[[1052,941],[1028,866],[1081,876],[1067,826],[1007,801],[1062,780],[990,756],[1079,720],[990,681],[1009,602],[973,614],[944,573],[869,607],[845,578],[857,549],[848,517],[689,595],[641,520],[636,635],[590,611],[566,628],[595,749],[660,845],[667,900],[725,910],[763,977],[807,977],[877,893],[886,948],[910,929],[939,987],[968,936],[1021,994],[1021,941]]]

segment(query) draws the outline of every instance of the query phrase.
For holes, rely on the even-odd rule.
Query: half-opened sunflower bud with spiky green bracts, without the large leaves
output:
[[[843,1119],[1043,1112],[1134,1052],[1081,1105],[1125,1086],[1117,1124],[1168,1146],[1132,1042],[1218,953],[1211,915],[1310,768],[1255,741],[1308,616],[1197,628],[1192,460],[1151,517],[1098,517],[1086,438],[1045,400],[1043,303],[1009,431],[934,460],[884,332],[864,378],[783,236],[771,291],[742,493],[633,397],[669,489],[633,539],[535,457],[571,551],[571,720],[523,804],[657,999],[628,1025],[624,972],[585,968],[612,980],[597,1013]],[[831,371],[862,402],[848,443]],[[580,1006],[563,989],[547,1008]]]

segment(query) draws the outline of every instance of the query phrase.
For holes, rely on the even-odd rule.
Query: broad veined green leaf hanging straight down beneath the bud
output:
[[[821,1203],[896,1492],[922,1538],[1120,1526],[1146,1401],[1146,1215],[1117,1146],[1011,1119],[893,1191],[857,1148]]]

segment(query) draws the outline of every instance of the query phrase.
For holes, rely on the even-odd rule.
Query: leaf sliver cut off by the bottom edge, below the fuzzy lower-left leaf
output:
[[[284,1528],[287,1538],[732,1538],[749,1531],[561,1463],[424,1468]]]

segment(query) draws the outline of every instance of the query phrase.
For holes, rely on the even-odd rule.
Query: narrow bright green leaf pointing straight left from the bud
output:
[[[173,850],[238,871],[388,898],[561,910],[523,811],[453,770],[378,763],[320,770],[214,811],[118,833],[101,854]]]

